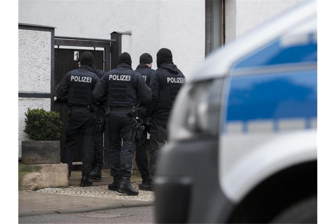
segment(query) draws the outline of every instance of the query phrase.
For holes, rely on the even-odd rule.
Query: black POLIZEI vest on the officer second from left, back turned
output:
[[[136,90],[133,87],[135,71],[117,68],[108,72],[107,101],[113,106],[133,106],[136,104]]]

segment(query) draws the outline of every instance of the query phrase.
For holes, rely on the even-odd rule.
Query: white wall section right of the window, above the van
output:
[[[225,4],[226,43],[304,0],[228,0]]]

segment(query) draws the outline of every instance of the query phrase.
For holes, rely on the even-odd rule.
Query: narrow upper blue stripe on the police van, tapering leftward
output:
[[[244,57],[235,63],[233,70],[274,64],[286,64],[297,62],[317,61],[317,41],[315,33],[304,34],[308,41],[296,43],[295,45],[283,45],[281,39],[269,43],[264,48]]]

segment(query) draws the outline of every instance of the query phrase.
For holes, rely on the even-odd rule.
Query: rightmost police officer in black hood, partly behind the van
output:
[[[185,82],[182,72],[173,63],[173,56],[169,49],[161,48],[157,55],[158,69],[152,73],[150,88],[152,101],[147,106],[146,123],[152,121],[150,130],[150,178],[155,175],[157,154],[167,141],[167,120],[175,97]]]

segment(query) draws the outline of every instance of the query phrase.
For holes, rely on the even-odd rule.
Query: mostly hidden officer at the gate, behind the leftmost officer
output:
[[[101,79],[103,75],[106,73],[100,69],[97,69],[95,65],[92,68],[93,72]],[[105,127],[105,110],[106,110],[106,100],[99,102],[97,106],[97,119],[98,119],[98,127],[97,133],[94,136],[94,159],[93,159],[93,167],[90,173],[90,178],[96,181],[101,181],[101,168],[104,164],[104,152],[103,152],[103,132]]]

